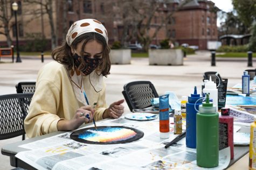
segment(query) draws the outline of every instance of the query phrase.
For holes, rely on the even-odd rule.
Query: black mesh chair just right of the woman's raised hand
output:
[[[123,86],[122,94],[131,112],[133,109],[152,106],[151,99],[159,97],[154,85],[149,81],[127,83]]]

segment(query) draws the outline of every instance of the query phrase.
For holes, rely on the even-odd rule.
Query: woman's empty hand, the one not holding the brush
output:
[[[109,106],[109,108],[105,111],[105,113],[103,114],[103,119],[105,119],[107,117],[113,117],[113,118],[117,119],[120,116],[122,116],[122,114],[124,113],[124,107],[121,104],[123,102],[124,102],[124,99],[113,102],[113,104],[111,104]]]

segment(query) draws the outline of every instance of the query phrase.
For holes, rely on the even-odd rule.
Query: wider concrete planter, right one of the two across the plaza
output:
[[[181,49],[149,49],[149,65],[183,65]]]

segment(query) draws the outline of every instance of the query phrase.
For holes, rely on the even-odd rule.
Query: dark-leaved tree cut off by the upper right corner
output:
[[[249,50],[256,51],[256,0],[233,0],[234,9],[237,10],[241,21],[251,27],[251,38],[249,42]]]

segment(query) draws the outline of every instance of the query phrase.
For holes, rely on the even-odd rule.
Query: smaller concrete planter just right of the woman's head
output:
[[[110,50],[111,64],[130,64],[132,57],[130,49],[112,49]]]

